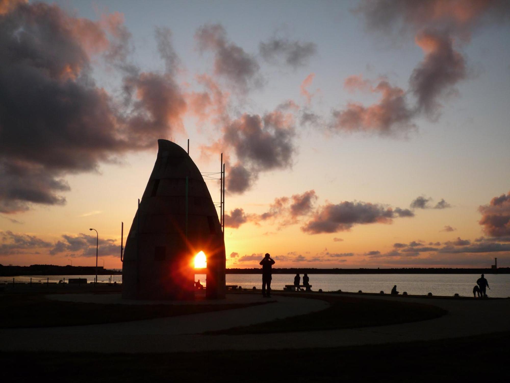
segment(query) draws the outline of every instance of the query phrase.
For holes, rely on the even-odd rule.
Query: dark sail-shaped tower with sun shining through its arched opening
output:
[[[174,142],[158,157],[127,236],[122,298],[193,299],[195,254],[207,256],[206,296],[225,296],[225,245],[198,167]]]

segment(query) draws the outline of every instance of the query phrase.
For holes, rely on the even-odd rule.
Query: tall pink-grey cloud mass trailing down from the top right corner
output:
[[[412,121],[421,114],[436,120],[442,108],[442,99],[456,94],[455,85],[467,77],[465,58],[455,49],[454,44],[469,42],[472,32],[482,24],[507,19],[510,4],[499,0],[364,0],[354,13],[361,15],[367,28],[377,33],[377,36],[407,38],[409,33],[414,34],[415,43],[424,52],[423,60],[415,67],[409,79],[409,92],[416,99],[412,108],[398,101],[398,107],[393,108],[384,108],[383,102],[368,108],[349,104],[344,112],[335,112],[341,117],[337,125],[348,127],[348,130],[380,134],[381,131],[395,133],[415,129]],[[367,87],[367,83],[359,76],[351,76],[346,81],[348,89]],[[401,94],[406,93],[400,88],[394,89],[395,92],[398,89]],[[397,110],[400,113],[396,115],[401,118],[387,118],[386,124],[373,123],[377,119],[366,117],[371,109],[386,109],[384,114],[387,116],[395,114]],[[336,119],[338,121],[338,117]]]

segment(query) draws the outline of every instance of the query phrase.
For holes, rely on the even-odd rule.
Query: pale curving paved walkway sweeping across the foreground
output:
[[[356,295],[356,297],[401,299],[389,296]],[[310,305],[308,309],[313,311],[326,307],[325,302],[315,299],[276,297],[276,300],[277,303],[262,306],[174,318],[90,326],[3,329],[0,330],[0,339],[2,339],[0,350],[139,353],[297,349],[435,340],[510,330],[510,321],[508,320],[510,299],[475,301],[405,298],[410,302],[443,307],[449,311],[449,314],[428,321],[359,329],[241,336],[199,334],[199,332],[207,330],[272,320],[271,316],[273,318],[281,317],[280,309],[288,310],[291,307]],[[314,306],[312,307],[312,305]],[[260,314],[261,310],[264,314]]]

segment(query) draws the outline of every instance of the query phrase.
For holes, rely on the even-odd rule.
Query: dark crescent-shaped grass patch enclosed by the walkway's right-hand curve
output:
[[[285,296],[322,299],[329,302],[331,306],[315,313],[297,317],[277,319],[272,322],[211,331],[209,333],[238,335],[335,330],[423,321],[438,318],[447,313],[446,310],[436,306],[403,302],[401,300],[391,301],[336,295],[310,296],[305,294],[285,294]]]

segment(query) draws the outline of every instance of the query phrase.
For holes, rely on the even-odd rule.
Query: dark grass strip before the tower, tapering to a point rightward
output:
[[[0,295],[0,328],[79,326],[208,313],[265,304],[125,305],[62,302],[42,295]]]

